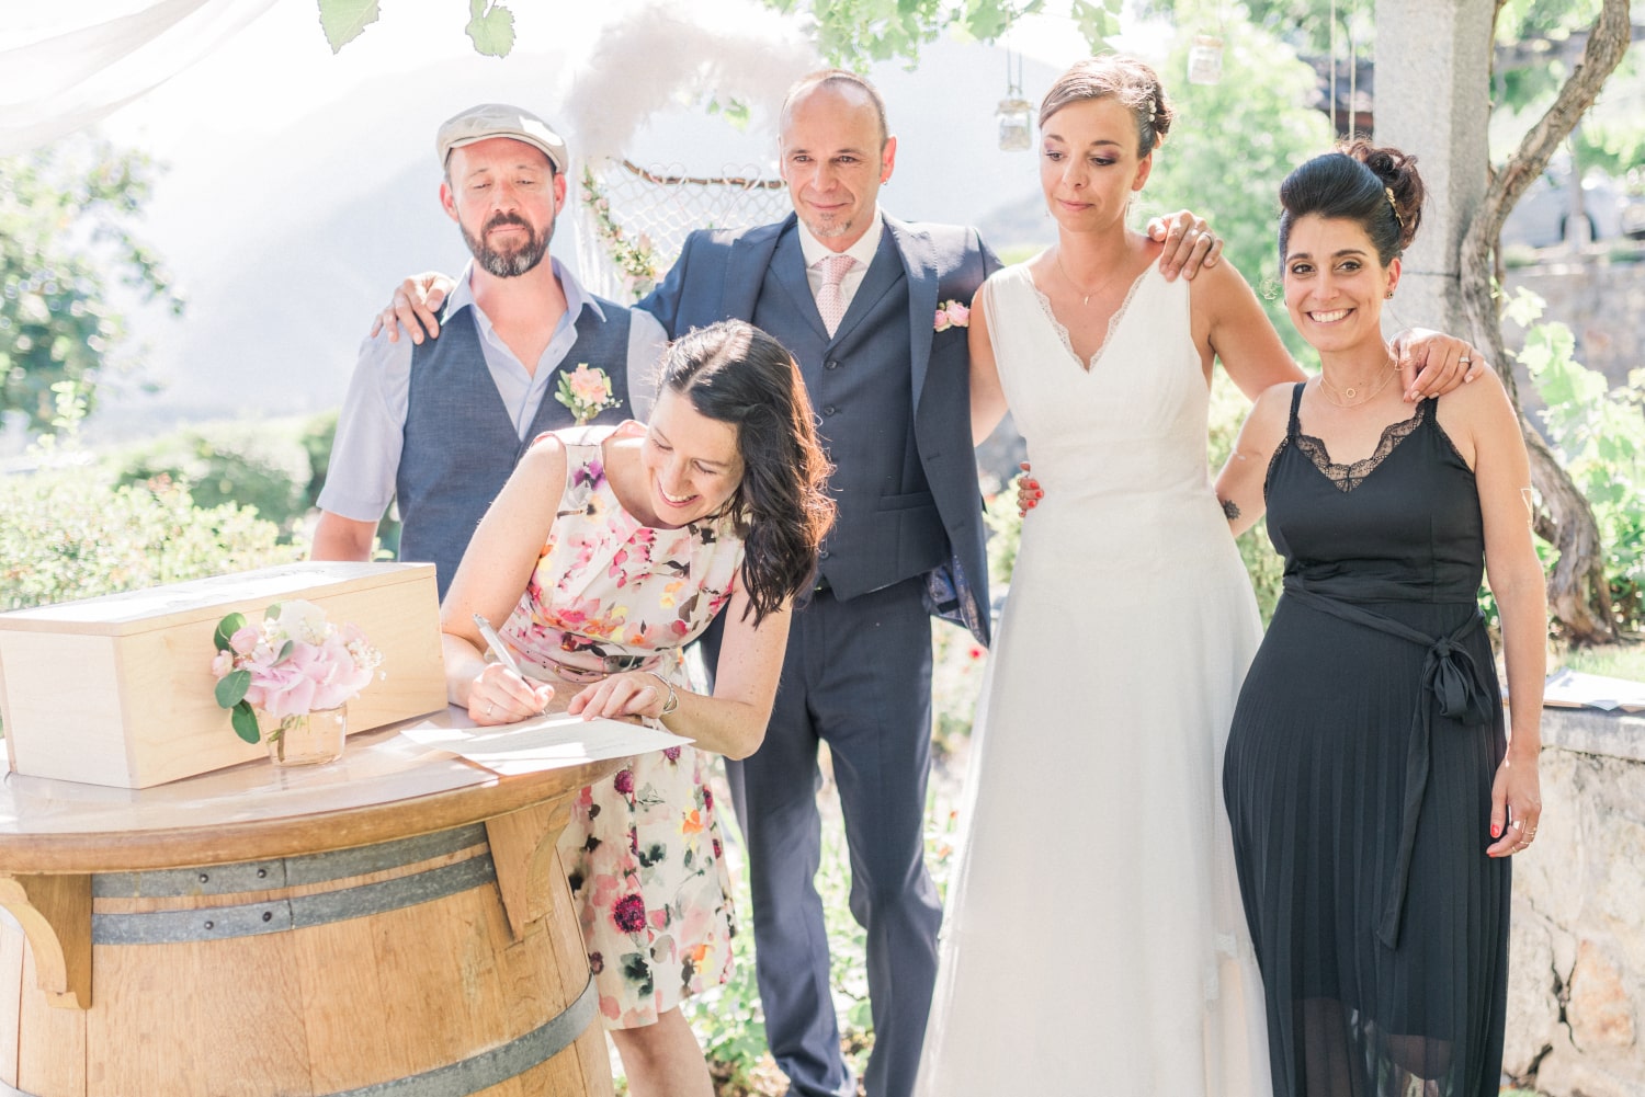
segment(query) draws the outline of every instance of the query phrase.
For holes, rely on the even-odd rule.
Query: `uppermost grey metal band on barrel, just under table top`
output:
[[[377,845],[337,849],[301,857],[245,860],[232,865],[199,868],[163,868],[160,872],[99,872],[92,877],[92,898],[135,900],[174,898],[184,895],[234,895],[237,891],[275,891],[303,883],[327,883],[349,877],[403,868],[419,860],[444,857],[485,840],[485,824],[475,822],[451,831],[418,834]],[[3,1092],[0,1092],[3,1097]]]

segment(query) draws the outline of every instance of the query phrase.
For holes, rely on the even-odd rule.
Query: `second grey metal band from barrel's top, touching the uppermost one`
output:
[[[283,933],[428,903],[459,891],[470,891],[495,878],[497,868],[492,865],[490,854],[484,854],[408,877],[364,883],[339,891],[293,895],[265,903],[145,911],[140,914],[94,913],[92,944],[176,944]]]

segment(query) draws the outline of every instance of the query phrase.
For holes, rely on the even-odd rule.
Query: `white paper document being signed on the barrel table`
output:
[[[623,720],[584,720],[564,712],[500,727],[475,727],[469,714],[457,707],[447,707],[400,734],[423,747],[449,750],[503,776],[628,758],[691,742],[655,727]]]

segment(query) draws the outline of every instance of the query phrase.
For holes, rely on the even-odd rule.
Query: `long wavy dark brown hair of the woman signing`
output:
[[[693,327],[663,359],[663,388],[701,414],[737,428],[742,482],[730,498],[744,539],[742,581],[753,623],[808,590],[818,546],[834,523],[832,470],[813,426],[799,367],[753,324]]]

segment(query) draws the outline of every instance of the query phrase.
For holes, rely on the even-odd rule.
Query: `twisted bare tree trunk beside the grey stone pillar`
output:
[[[1499,0],[1497,10],[1502,3]],[[1485,347],[1508,388],[1513,406],[1520,406],[1518,385],[1502,342],[1502,312],[1494,293],[1502,271],[1495,257],[1502,240],[1502,222],[1525,189],[1548,166],[1548,160],[1599,95],[1606,79],[1627,53],[1632,26],[1627,0],[1604,0],[1599,20],[1587,35],[1582,59],[1559,89],[1553,105],[1531,127],[1520,148],[1485,187],[1479,214],[1462,235],[1457,273],[1462,286],[1462,309],[1469,339]],[[1594,643],[1615,638],[1610,610],[1610,587],[1606,581],[1604,546],[1594,510],[1559,467],[1541,436],[1520,411],[1520,429],[1531,459],[1531,487],[1536,488],[1536,535],[1559,551],[1548,576],[1548,607],[1564,625],[1573,641]]]

